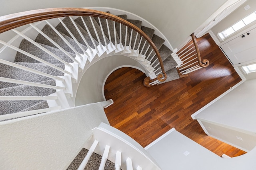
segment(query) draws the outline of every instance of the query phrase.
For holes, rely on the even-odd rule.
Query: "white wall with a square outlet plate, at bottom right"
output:
[[[145,149],[162,170],[255,170],[256,148],[234,158],[221,158],[175,129]],[[188,152],[188,154],[184,154]],[[171,167],[171,168],[170,168]]]

